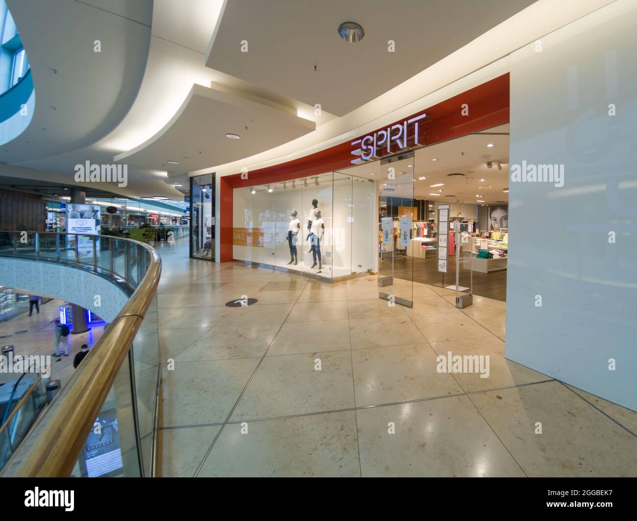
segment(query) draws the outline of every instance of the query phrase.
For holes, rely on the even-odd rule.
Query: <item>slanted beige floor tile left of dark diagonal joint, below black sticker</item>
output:
[[[216,326],[175,358],[178,362],[262,357],[279,330],[278,324]]]

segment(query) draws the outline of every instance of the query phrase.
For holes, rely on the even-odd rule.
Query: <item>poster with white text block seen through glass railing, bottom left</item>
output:
[[[80,453],[82,476],[114,477],[122,473],[122,449],[120,447],[117,411],[101,411]]]

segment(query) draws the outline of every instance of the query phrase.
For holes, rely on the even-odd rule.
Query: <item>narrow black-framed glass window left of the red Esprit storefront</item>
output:
[[[190,257],[215,260],[215,175],[190,178]]]

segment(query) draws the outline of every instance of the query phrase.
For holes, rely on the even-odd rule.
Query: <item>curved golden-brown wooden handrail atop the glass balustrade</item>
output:
[[[56,235],[52,232],[38,233]],[[107,241],[127,241],[145,248],[150,253],[147,272],[124,308],[73,373],[71,380],[39,416],[4,467],[3,476],[66,477],[71,474],[92,424],[155,296],[161,276],[161,260],[154,248],[121,237],[93,237]]]

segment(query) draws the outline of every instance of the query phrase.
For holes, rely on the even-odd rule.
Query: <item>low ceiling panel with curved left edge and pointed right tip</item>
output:
[[[174,172],[237,161],[315,130],[290,108],[227,87],[193,85],[168,124],[115,161]],[[226,134],[238,134],[229,139]]]

